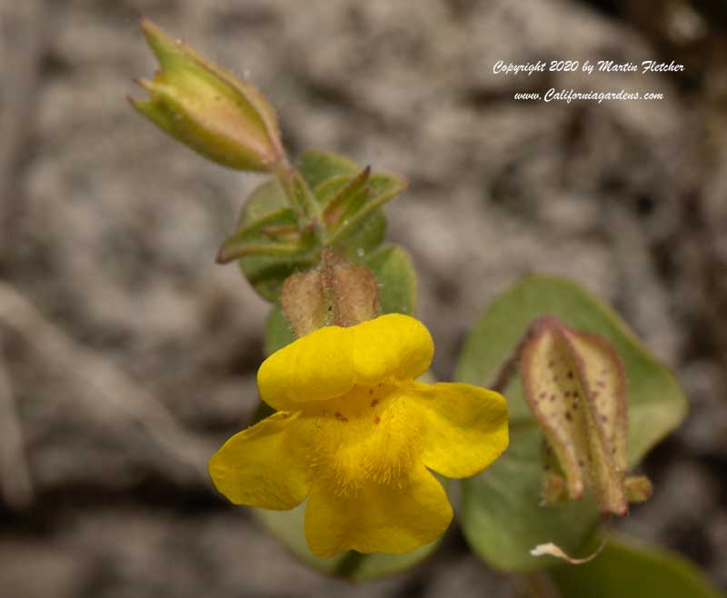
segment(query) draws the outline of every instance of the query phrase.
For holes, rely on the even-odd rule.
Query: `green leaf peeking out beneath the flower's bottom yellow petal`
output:
[[[254,513],[304,563],[324,573],[357,581],[373,580],[409,569],[431,554],[440,543],[438,539],[406,554],[362,554],[351,551],[331,559],[322,559],[312,554],[305,543],[305,503],[292,511],[254,509]]]

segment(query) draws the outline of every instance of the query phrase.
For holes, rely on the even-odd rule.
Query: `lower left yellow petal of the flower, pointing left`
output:
[[[214,453],[214,486],[235,504],[284,511],[304,501],[310,488],[296,446],[296,415],[273,414],[235,434]]]

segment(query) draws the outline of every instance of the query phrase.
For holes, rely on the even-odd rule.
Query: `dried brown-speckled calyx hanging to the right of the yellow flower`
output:
[[[545,436],[546,502],[593,492],[603,513],[625,515],[652,491],[628,471],[626,376],[612,344],[547,316],[523,345],[523,390]]]

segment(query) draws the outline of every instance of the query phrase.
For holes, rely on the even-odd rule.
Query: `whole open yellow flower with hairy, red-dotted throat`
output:
[[[441,535],[452,507],[429,470],[463,478],[508,443],[500,394],[421,384],[434,346],[402,314],[328,326],[272,354],[257,383],[278,413],[210,460],[235,504],[287,510],[307,498],[305,537],[323,557],[407,553]]]

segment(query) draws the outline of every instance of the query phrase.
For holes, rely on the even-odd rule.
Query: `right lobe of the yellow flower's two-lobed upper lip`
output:
[[[409,315],[381,315],[351,330],[358,384],[376,384],[389,376],[399,380],[417,378],[432,364],[432,335]]]

